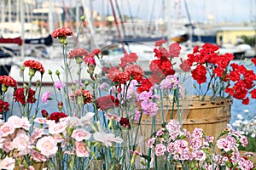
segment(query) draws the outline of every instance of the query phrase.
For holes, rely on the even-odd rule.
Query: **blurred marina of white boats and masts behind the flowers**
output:
[[[219,45],[220,54],[231,53],[235,55],[236,59],[255,56],[255,41],[252,40],[248,42],[250,44],[245,44],[242,39],[242,36],[244,38],[255,37],[256,23],[253,22],[192,23],[189,19],[182,22],[179,20],[146,21],[135,17],[124,19],[119,18],[121,15],[117,16],[117,14],[121,14],[118,9],[119,3],[115,4],[115,8],[108,6],[112,9],[113,14],[101,15],[100,11],[94,11],[92,3],[88,6],[88,4],[79,2],[76,7],[70,8],[67,3],[42,1],[37,4],[25,2],[21,4],[22,1],[20,3],[19,1],[10,2],[1,3],[1,8],[8,6],[2,10],[1,15],[1,74],[14,77],[20,85],[24,80],[28,80],[27,77],[23,80],[20,71],[20,65],[26,59],[40,61],[46,71],[60,71],[61,80],[64,81],[62,48],[59,42],[50,36],[51,31],[60,26],[69,26],[74,32],[80,31],[79,37],[69,37],[67,52],[74,46],[85,48],[88,51],[94,48],[101,49],[102,59],[97,60],[96,67],[98,75],[102,74],[104,67],[119,65],[119,59],[124,56],[124,49],[127,53],[136,53],[139,57],[137,64],[150,74],[150,70],[147,69],[150,61],[154,59],[154,42],[160,39],[166,39],[168,43],[179,42],[182,47],[183,59],[186,59],[186,55],[192,51],[195,45],[205,42]],[[167,3],[163,5],[167,5]],[[168,5],[172,7],[172,3]],[[21,10],[21,8],[26,8],[26,10]],[[86,20],[79,30],[79,17],[83,14]],[[164,18],[169,19],[168,17]],[[70,24],[71,19],[73,19],[73,25]],[[19,23],[24,24],[18,26]],[[8,27],[9,29],[19,27],[20,30],[10,31],[7,29]],[[23,34],[21,34],[22,32]],[[70,65],[72,72],[78,70],[75,62]],[[90,80],[86,69],[82,70],[82,80]],[[74,79],[76,75],[73,73]],[[36,75],[36,77],[38,78],[34,78],[33,83],[40,78],[40,75]],[[45,74],[43,84],[49,86],[52,83],[51,77]],[[241,111],[234,109],[234,112]]]

